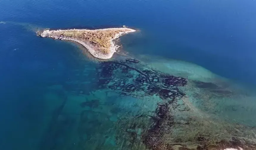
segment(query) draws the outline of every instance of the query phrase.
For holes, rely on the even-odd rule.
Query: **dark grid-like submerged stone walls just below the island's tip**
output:
[[[135,59],[125,61],[101,62],[96,69],[98,75],[98,87],[120,90],[123,95],[131,95],[134,92],[144,92],[146,95],[158,95],[163,99],[175,99],[182,97],[178,86],[185,86],[187,79],[162,74],[147,68],[142,70],[132,67],[130,63],[139,63]],[[122,78],[116,75],[126,74]],[[139,95],[138,95],[139,96]]]

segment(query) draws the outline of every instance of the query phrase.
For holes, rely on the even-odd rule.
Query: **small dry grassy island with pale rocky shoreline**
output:
[[[48,37],[59,40],[68,40],[81,44],[88,52],[98,59],[110,59],[118,49],[114,40],[121,35],[136,30],[127,28],[106,28],[106,29],[67,29],[67,30],[49,30],[38,31],[40,37]]]

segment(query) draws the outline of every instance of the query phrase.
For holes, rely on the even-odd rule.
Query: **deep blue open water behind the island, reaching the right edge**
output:
[[[148,45],[144,53],[187,60],[221,76],[256,83],[251,69],[254,5],[254,1],[2,1],[0,19],[50,28],[126,24],[150,36],[143,43]]]

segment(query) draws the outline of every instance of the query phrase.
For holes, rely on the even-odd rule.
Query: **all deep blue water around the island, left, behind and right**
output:
[[[71,70],[90,64],[76,46],[37,37],[36,27],[127,25],[141,30],[140,38],[128,37],[131,54],[191,62],[254,86],[255,5],[241,0],[0,1],[0,21],[6,22],[0,24],[0,149],[36,145],[31,139],[37,132],[33,127],[46,116],[45,86],[66,82]]]

